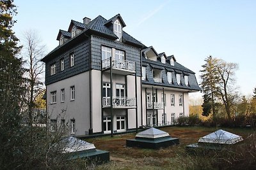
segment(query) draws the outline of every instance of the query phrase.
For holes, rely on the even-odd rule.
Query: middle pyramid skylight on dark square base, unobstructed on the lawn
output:
[[[178,144],[178,138],[171,138],[168,132],[161,131],[154,127],[136,134],[135,139],[126,140],[126,146],[139,148],[157,149]]]

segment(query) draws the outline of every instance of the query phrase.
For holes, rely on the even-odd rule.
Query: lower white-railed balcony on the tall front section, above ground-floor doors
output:
[[[102,98],[102,106],[103,108],[110,108],[111,103],[110,97]],[[136,98],[128,98],[128,97],[113,97],[112,99],[113,108],[136,108]]]

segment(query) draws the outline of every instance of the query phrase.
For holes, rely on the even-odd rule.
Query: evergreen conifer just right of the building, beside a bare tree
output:
[[[202,87],[202,91],[204,92],[204,103],[203,107],[203,115],[208,116],[209,113],[212,113],[213,118],[216,116],[215,110],[215,99],[216,93],[218,89],[218,83],[220,81],[220,77],[218,76],[218,71],[216,69],[217,59],[212,58],[210,55],[205,59],[205,64],[202,66],[203,69],[200,70],[202,73],[200,75],[202,79],[202,83],[200,84]]]

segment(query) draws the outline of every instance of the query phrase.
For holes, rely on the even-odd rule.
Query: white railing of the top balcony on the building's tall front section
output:
[[[102,60],[102,69],[110,67],[110,58]],[[125,69],[127,71],[135,72],[135,62],[129,60],[112,59],[112,67],[114,69]]]

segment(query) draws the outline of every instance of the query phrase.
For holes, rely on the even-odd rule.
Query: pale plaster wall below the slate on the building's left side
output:
[[[70,101],[70,87],[75,86],[75,100]],[[61,103],[61,89],[65,89],[65,102]],[[50,104],[51,92],[57,92],[57,103]],[[70,119],[76,121],[76,136],[84,135],[90,129],[89,110],[89,72],[77,74],[65,80],[47,85],[47,111],[49,118],[65,119],[70,125]],[[70,132],[70,131],[69,131]]]

